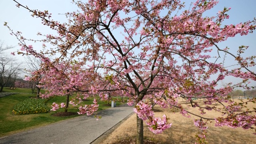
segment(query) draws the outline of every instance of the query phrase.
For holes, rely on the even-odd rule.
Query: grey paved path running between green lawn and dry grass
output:
[[[90,144],[132,112],[132,106],[123,104],[98,112],[102,116],[98,121],[93,116],[79,116],[0,138],[0,144]]]

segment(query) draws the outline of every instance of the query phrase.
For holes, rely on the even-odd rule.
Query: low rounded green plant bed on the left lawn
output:
[[[46,99],[28,98],[22,102],[19,102],[13,107],[13,114],[36,114],[49,112],[49,109],[45,105]]]

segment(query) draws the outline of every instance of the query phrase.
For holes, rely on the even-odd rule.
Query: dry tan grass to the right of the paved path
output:
[[[181,102],[182,103],[182,102]],[[255,107],[255,104],[249,104],[248,107]],[[172,127],[165,130],[162,134],[153,134],[144,124],[144,140],[152,141],[157,144],[192,144],[196,141],[195,135],[200,130],[194,126],[193,119],[186,118],[175,112],[173,109],[162,109],[154,106],[155,116],[162,117],[166,114],[170,118]],[[197,112],[197,109],[190,108],[191,112]],[[206,116],[216,117],[217,112],[210,111]],[[215,127],[209,124],[207,129],[207,141],[209,144],[255,144],[256,136],[253,130],[244,130],[242,128]],[[112,132],[101,144],[118,144],[122,141],[129,141],[136,138],[136,114],[133,114],[123,122],[114,132]]]

